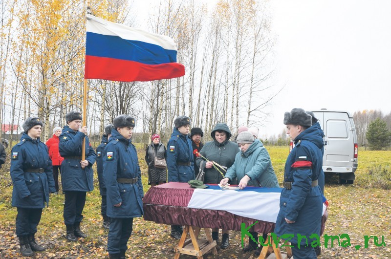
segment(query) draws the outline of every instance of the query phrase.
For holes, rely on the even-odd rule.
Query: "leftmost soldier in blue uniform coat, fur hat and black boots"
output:
[[[39,118],[27,118],[22,126],[21,142],[11,151],[12,206],[18,210],[16,236],[22,256],[32,256],[33,251],[45,250],[36,243],[34,236],[45,202],[49,206],[49,192],[56,192],[52,161],[40,139],[42,127]]]

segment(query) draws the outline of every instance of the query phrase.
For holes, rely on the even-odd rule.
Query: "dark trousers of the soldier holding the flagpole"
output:
[[[64,204],[64,223],[73,225],[83,219],[83,209],[86,204],[87,192],[66,191]]]

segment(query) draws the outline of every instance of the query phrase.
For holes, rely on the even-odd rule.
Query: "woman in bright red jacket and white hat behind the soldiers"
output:
[[[58,144],[60,143],[60,139],[58,138],[61,134],[61,127],[56,127],[53,129],[53,137],[49,138],[46,141],[46,146],[49,150],[49,157],[52,159],[53,164],[53,178],[56,186],[56,193],[58,194],[58,172],[61,173],[61,163],[64,158],[60,155],[58,150]]]

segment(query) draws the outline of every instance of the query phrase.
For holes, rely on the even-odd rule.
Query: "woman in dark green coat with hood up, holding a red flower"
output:
[[[232,136],[231,131],[225,123],[217,123],[213,129],[211,136],[212,141],[205,143],[201,149],[200,154],[207,158],[209,161],[205,161],[201,157],[197,157],[195,161],[198,167],[202,167],[205,171],[205,183],[218,184],[221,179],[224,178],[221,173],[225,173],[220,169],[221,173],[218,172],[213,162],[221,165],[227,170],[230,168],[235,161],[235,156],[239,152],[238,145],[230,141]],[[213,162],[212,162],[213,161]],[[202,163],[202,165],[201,165]],[[217,167],[218,168],[218,167]],[[218,240],[218,229],[212,229],[213,240]],[[229,230],[222,230],[221,248],[227,248],[229,246]]]

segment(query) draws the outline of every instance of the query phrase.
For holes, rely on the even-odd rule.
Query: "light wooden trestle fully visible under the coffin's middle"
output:
[[[209,228],[203,228],[207,239],[198,239],[200,227],[185,226],[179,244],[175,247],[174,259],[179,259],[181,254],[196,256],[197,259],[203,259],[203,255],[212,250],[212,254],[217,255],[216,241],[212,239]],[[186,239],[187,234],[190,238]]]

